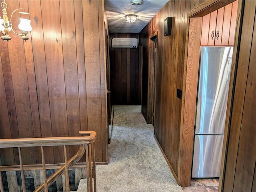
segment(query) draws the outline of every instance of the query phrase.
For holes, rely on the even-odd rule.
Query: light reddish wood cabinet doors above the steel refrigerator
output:
[[[238,0],[203,17],[201,46],[233,46]]]

